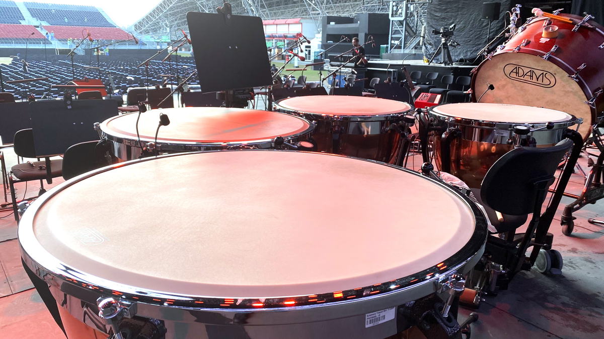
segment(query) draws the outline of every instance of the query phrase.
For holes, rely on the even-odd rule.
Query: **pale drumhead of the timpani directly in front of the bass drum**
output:
[[[570,121],[573,117],[559,110],[511,104],[459,103],[435,106],[433,112],[451,118],[511,122],[512,124],[544,124]]]

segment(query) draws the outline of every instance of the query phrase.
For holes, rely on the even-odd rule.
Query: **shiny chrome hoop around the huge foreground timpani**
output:
[[[173,156],[185,156],[190,154],[198,154],[198,153],[208,153],[215,152],[214,151],[202,151],[202,152],[190,152],[190,153],[175,153],[175,154],[166,154],[164,156],[159,156],[160,158],[165,157],[173,157]],[[222,150],[220,152],[225,151],[277,151],[277,150]],[[278,152],[301,152],[301,153],[313,153],[313,154],[321,154],[323,156],[340,156],[337,154],[326,154],[326,153],[316,153],[316,152],[306,152],[306,151],[278,151]],[[346,156],[340,156],[346,157]],[[399,279],[394,279],[388,282],[381,282],[380,284],[371,285],[368,287],[359,287],[353,290],[345,290],[345,291],[337,291],[330,293],[321,293],[321,294],[313,294],[310,296],[277,296],[270,298],[262,298],[262,307],[258,308],[254,306],[254,303],[260,302],[259,298],[254,297],[238,297],[238,296],[225,296],[225,297],[204,297],[204,296],[188,296],[181,294],[173,294],[165,291],[152,291],[152,290],[144,290],[141,291],[141,288],[133,287],[130,285],[120,284],[118,282],[113,282],[110,280],[103,279],[102,277],[92,276],[91,274],[87,274],[83,271],[76,270],[68,265],[65,265],[59,259],[54,258],[53,255],[48,253],[45,249],[43,249],[39,244],[37,244],[36,237],[33,235],[33,220],[36,212],[44,206],[47,201],[54,197],[54,195],[63,191],[63,189],[68,188],[71,185],[76,184],[84,179],[95,176],[100,173],[104,173],[107,171],[114,170],[115,168],[133,165],[135,163],[140,163],[144,161],[155,160],[154,157],[144,158],[140,160],[130,160],[127,162],[122,162],[118,165],[111,165],[100,168],[95,171],[91,171],[89,173],[82,174],[80,176],[74,177],[64,183],[61,183],[47,192],[47,194],[42,195],[38,198],[31,206],[28,208],[28,212],[25,213],[21,219],[20,227],[18,229],[19,234],[19,244],[21,246],[21,253],[24,262],[28,267],[36,272],[36,274],[42,278],[49,281],[51,285],[59,286],[63,289],[64,284],[69,285],[68,289],[72,290],[73,287],[81,288],[88,292],[96,294],[97,296],[118,296],[122,299],[130,300],[131,302],[141,302],[150,305],[157,306],[176,306],[176,307],[185,307],[185,308],[194,308],[194,309],[219,309],[220,311],[231,311],[236,309],[270,309],[270,310],[278,310],[278,309],[297,309],[297,308],[314,308],[326,305],[339,305],[342,303],[347,303],[351,301],[357,302],[358,300],[368,300],[373,297],[386,297],[386,296],[396,296],[396,299],[400,299],[402,297],[402,293],[405,291],[414,290],[415,288],[422,288],[425,286],[429,286],[426,284],[434,284],[439,280],[443,279],[443,277],[450,276],[454,274],[458,270],[463,270],[463,268],[469,262],[475,262],[482,253],[484,252],[484,246],[486,244],[486,236],[487,236],[487,223],[486,218],[483,215],[483,212],[476,206],[474,202],[472,202],[468,197],[461,194],[456,189],[447,186],[443,183],[437,182],[435,180],[423,177],[421,174],[416,173],[414,171],[407,170],[405,168],[400,168],[398,166],[390,165],[388,163],[377,162],[374,160],[361,159],[356,157],[348,157],[350,159],[362,160],[367,162],[373,162],[378,165],[390,166],[395,168],[396,170],[405,171],[408,174],[413,174],[419,177],[422,177],[425,180],[431,180],[435,185],[439,185],[441,188],[445,189],[449,193],[455,195],[457,198],[460,198],[461,201],[464,202],[464,205],[467,206],[474,215],[474,232],[472,233],[471,238],[467,241],[466,245],[463,246],[460,250],[458,250],[454,255],[445,259],[445,261],[435,264],[432,267],[426,268],[418,273],[415,273],[411,276],[401,277]],[[29,226],[29,227],[28,227]],[[41,259],[41,260],[40,260]],[[43,261],[43,262],[42,262]],[[433,285],[434,293],[436,289],[436,285]],[[365,293],[367,292],[367,293]],[[339,294],[342,294],[341,296]],[[350,296],[355,296],[354,299],[349,299]],[[366,295],[366,296],[365,296]],[[427,295],[427,294],[426,294]],[[94,299],[95,300],[95,299]],[[89,302],[94,302],[94,300],[88,300]],[[237,300],[238,303],[236,307],[233,306],[233,303],[225,302],[225,300]],[[293,304],[288,303],[294,301]],[[410,300],[408,300],[410,301]],[[292,306],[288,306],[292,305]]]

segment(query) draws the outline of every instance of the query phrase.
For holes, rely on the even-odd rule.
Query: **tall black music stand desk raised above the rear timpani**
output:
[[[188,12],[187,22],[202,92],[272,84],[260,17]]]

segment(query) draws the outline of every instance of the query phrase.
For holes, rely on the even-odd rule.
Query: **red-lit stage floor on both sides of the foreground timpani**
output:
[[[10,167],[16,157],[10,149],[3,151]],[[588,170],[586,161],[583,157],[580,164]],[[419,165],[419,156],[410,159],[410,167]],[[571,180],[567,191],[579,194],[583,177],[573,174]],[[51,186],[62,181],[57,179]],[[22,197],[25,184],[18,184],[17,188]],[[28,183],[28,196],[36,194],[37,189],[37,183]],[[564,198],[563,203],[570,201]],[[574,214],[576,226],[570,237],[561,232],[562,207],[550,229],[554,249],[564,258],[562,275],[546,276],[535,269],[519,273],[509,290],[487,297],[476,311],[480,319],[472,324],[473,339],[604,337],[604,227],[587,222],[588,218],[604,218],[604,200]],[[2,212],[0,217],[5,215],[7,212]],[[21,267],[16,231],[12,215],[0,218],[0,337],[65,338]],[[472,311],[461,308],[460,322]]]

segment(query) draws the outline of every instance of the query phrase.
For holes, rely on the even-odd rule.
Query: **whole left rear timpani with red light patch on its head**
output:
[[[169,116],[170,124],[159,128],[156,147],[159,153],[223,150],[236,148],[274,148],[275,138],[295,144],[309,141],[314,126],[304,118],[265,110],[225,107],[185,107],[150,110],[118,115],[100,124],[101,138],[114,143],[115,156],[138,159],[141,144],[155,142],[159,114]]]

